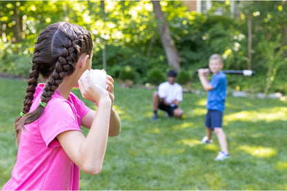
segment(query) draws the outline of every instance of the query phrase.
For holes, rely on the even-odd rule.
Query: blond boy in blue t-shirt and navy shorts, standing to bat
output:
[[[222,118],[225,108],[227,79],[222,67],[224,60],[219,54],[212,54],[208,63],[209,69],[199,69],[199,80],[201,85],[208,91],[206,108],[206,137],[202,139],[204,144],[211,143],[212,131],[215,131],[221,151],[219,151],[215,161],[224,160],[230,157],[227,148],[226,135],[222,129]],[[210,71],[213,76],[209,82]]]

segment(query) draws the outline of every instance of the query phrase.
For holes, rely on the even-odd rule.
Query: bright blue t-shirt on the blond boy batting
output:
[[[208,91],[206,108],[210,110],[224,111],[227,79],[223,71],[212,76],[209,84],[213,87]]]

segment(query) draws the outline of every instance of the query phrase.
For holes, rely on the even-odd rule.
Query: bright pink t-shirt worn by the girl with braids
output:
[[[39,105],[43,84],[37,86],[30,111]],[[38,120],[21,132],[16,164],[3,190],[79,190],[79,167],[68,157],[57,135],[81,131],[89,108],[70,93],[65,100],[56,90]]]

